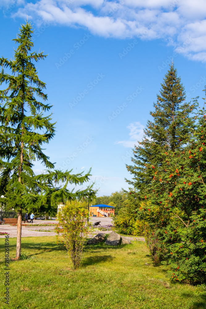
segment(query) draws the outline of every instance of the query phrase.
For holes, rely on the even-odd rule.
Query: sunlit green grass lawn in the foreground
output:
[[[11,262],[10,305],[4,303],[4,239],[0,239],[0,308],[25,309],[196,309],[206,308],[206,290],[171,283],[154,266],[143,242],[86,246],[82,267],[73,270],[55,236],[25,237],[26,260]],[[15,256],[10,239],[10,257]],[[145,265],[149,263],[149,266]]]

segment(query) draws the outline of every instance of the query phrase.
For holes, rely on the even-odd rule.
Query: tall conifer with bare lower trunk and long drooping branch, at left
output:
[[[82,176],[82,173],[71,175],[71,171],[53,170],[54,164],[43,153],[42,145],[54,137],[55,124],[51,115],[44,115],[52,106],[44,103],[46,85],[39,79],[33,62],[46,55],[31,52],[32,33],[31,23],[23,24],[14,39],[18,44],[14,60],[0,58],[0,84],[6,85],[0,91],[0,188],[6,192],[7,205],[18,210],[16,260],[21,254],[22,210],[54,207],[60,201],[82,198],[93,191],[91,185],[70,192],[67,185],[89,181],[90,171]],[[46,167],[46,174],[34,174],[35,160]]]

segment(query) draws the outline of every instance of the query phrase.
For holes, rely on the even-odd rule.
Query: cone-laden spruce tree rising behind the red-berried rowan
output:
[[[134,165],[126,165],[133,175],[132,180],[126,180],[133,186],[130,193],[138,195],[140,200],[152,189],[153,167],[162,164],[162,153],[179,149],[194,126],[190,114],[195,104],[186,103],[185,97],[181,79],[172,63],[161,84],[157,103],[153,104],[154,111],[150,112],[153,121],[147,122],[143,140],[133,149]]]

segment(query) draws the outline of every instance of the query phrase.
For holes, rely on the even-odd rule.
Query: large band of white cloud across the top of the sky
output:
[[[206,62],[205,0],[37,0],[13,16],[27,15],[104,37],[163,39],[176,52]]]

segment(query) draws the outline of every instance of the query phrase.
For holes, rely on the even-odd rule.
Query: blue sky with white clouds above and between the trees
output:
[[[171,59],[187,101],[203,96],[206,3],[1,0],[0,6],[0,55],[13,56],[11,39],[27,16],[34,49],[48,54],[37,67],[57,132],[45,153],[63,170],[92,166],[99,195],[127,189],[125,163],[143,136]]]

